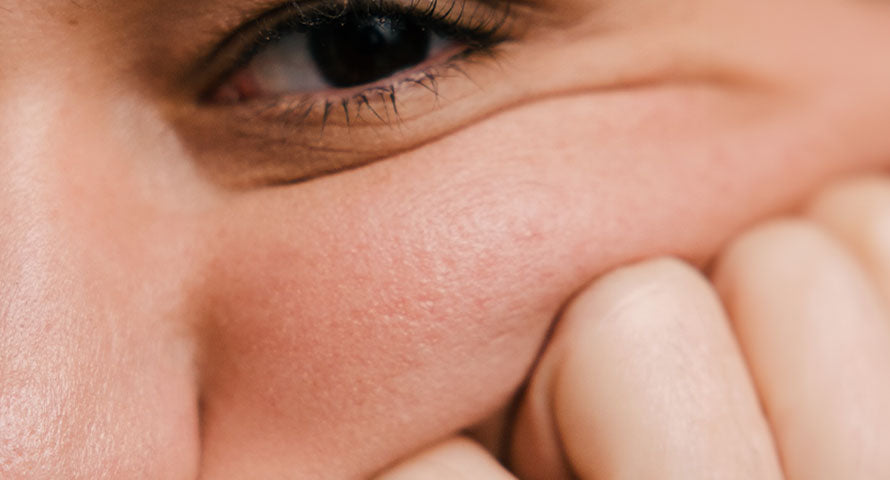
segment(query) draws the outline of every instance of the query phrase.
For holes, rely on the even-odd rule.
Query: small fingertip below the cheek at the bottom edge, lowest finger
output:
[[[377,480],[515,480],[482,446],[464,437],[435,445]]]

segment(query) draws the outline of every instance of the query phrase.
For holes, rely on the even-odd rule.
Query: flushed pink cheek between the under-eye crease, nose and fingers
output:
[[[502,404],[595,275],[656,254],[703,262],[861,166],[812,155],[808,112],[750,126],[781,116],[749,100],[538,102],[402,158],[233,198],[208,242],[205,451],[367,473]]]

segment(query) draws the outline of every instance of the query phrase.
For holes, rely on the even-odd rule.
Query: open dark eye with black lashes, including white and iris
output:
[[[408,82],[431,88],[460,60],[503,41],[508,17],[506,7],[474,8],[459,0],[291,3],[249,25],[256,38],[242,34],[233,42],[234,68],[206,97],[234,103],[339,89],[339,100],[350,100],[346,95],[359,87],[392,93]]]

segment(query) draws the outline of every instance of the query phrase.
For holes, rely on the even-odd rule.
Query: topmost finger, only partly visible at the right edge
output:
[[[853,251],[890,301],[890,179],[866,177],[833,186],[807,215]]]

